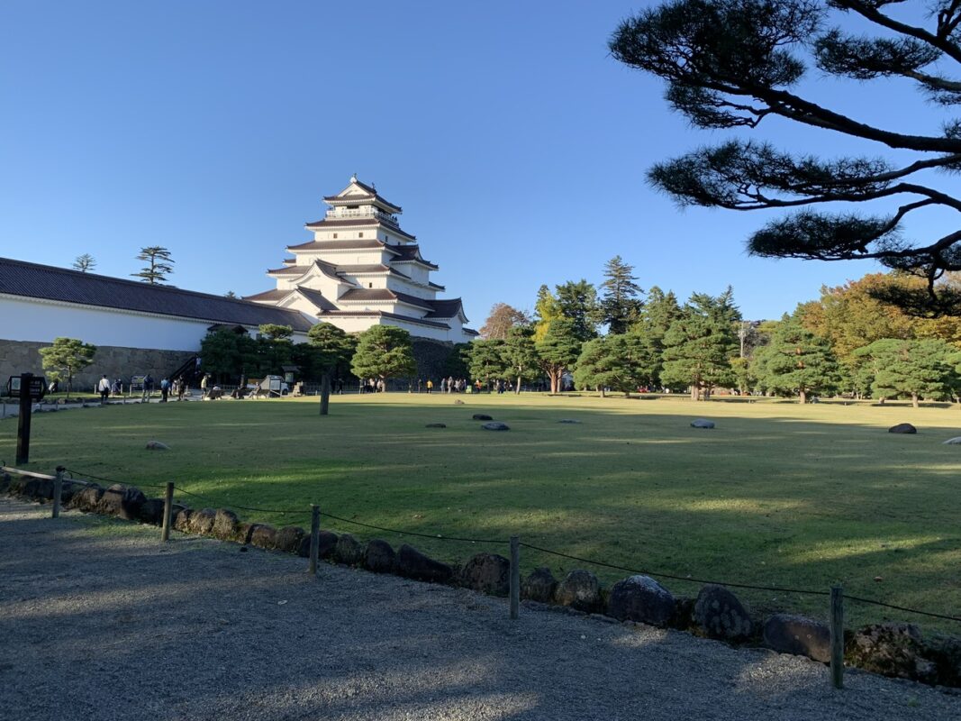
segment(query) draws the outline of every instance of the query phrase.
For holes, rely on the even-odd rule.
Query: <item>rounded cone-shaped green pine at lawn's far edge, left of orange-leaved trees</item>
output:
[[[838,362],[830,344],[804,329],[797,318],[785,316],[771,342],[757,351],[752,365],[757,382],[768,390],[797,393],[807,403],[810,393],[838,384]]]

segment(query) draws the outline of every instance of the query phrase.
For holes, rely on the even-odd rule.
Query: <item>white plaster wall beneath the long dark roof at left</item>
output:
[[[94,345],[196,351],[214,322],[0,296],[0,338],[5,340],[49,343],[65,336]],[[255,335],[257,327],[248,331]],[[293,340],[306,342],[307,334],[295,333]]]

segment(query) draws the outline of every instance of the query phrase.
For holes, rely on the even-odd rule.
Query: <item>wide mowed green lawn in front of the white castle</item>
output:
[[[482,431],[475,412],[511,430]],[[717,428],[691,428],[701,416]],[[905,421],[919,434],[886,432]],[[15,434],[15,419],[0,421],[0,459],[12,462]],[[418,533],[517,534],[678,576],[823,590],[840,582],[850,594],[958,615],[961,446],[942,444],[955,435],[956,407],[393,393],[335,396],[327,417],[313,398],[39,414],[29,467],[52,472],[62,463],[133,485],[173,480],[213,502],[184,498],[195,507],[317,503]],[[151,439],[171,450],[145,450]],[[446,560],[507,550],[325,525],[361,540],[410,542]],[[558,577],[584,565],[529,550],[522,558],[526,568],[548,565]],[[607,584],[628,575],[591,570]],[[663,583],[678,595],[699,587]],[[826,614],[826,599],[737,592],[754,609]],[[851,623],[891,618],[961,633],[949,621],[854,604],[846,610]]]

